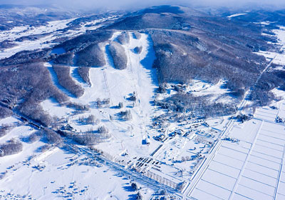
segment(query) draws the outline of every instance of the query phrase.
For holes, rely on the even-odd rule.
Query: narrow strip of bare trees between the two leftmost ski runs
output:
[[[84,89],[80,85],[76,84],[76,82],[71,78],[70,66],[53,65],[53,70],[56,72],[56,76],[58,77],[58,83],[70,91],[71,94],[77,98],[84,94]]]

